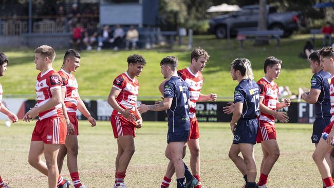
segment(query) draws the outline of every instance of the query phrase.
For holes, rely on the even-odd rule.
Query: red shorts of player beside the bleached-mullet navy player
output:
[[[276,128],[266,121],[259,121],[259,127],[257,130],[256,143],[261,143],[266,140],[276,140]]]

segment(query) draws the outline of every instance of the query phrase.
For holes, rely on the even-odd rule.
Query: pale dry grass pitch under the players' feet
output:
[[[0,174],[12,187],[46,187],[47,178],[28,164],[33,123],[18,122],[11,127],[0,121]],[[112,187],[117,142],[109,122],[90,127],[80,121],[79,173],[87,187]],[[228,123],[200,123],[201,177],[207,187],[240,187],[244,180],[228,158],[232,134]],[[311,124],[277,124],[281,156],[270,176],[268,187],[322,187],[320,174],[312,160]],[[164,157],[166,123],[144,122],[137,130],[136,152],[129,164],[128,187],[156,188],[164,176],[168,160]],[[257,171],[261,164],[261,145],[255,145]],[[184,161],[189,164],[189,151]],[[64,165],[65,167],[66,165]],[[67,168],[62,173],[69,179]],[[259,173],[257,174],[258,180]],[[175,176],[172,186],[175,188]]]

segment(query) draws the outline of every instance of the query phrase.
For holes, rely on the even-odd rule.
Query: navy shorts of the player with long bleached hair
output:
[[[239,119],[234,131],[233,143],[255,144],[257,128],[257,119]]]

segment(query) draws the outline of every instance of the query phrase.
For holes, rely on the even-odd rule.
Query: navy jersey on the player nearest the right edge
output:
[[[320,95],[318,101],[314,104],[316,118],[330,118],[330,74],[323,70],[313,74],[311,79],[311,89],[319,89]]]

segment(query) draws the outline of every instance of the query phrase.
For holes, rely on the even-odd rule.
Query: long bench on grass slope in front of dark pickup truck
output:
[[[240,41],[240,48],[244,48],[245,40],[276,40],[277,48],[280,47],[280,39],[283,36],[283,30],[261,30],[261,31],[238,31],[237,41]],[[261,36],[261,37],[257,37]]]

